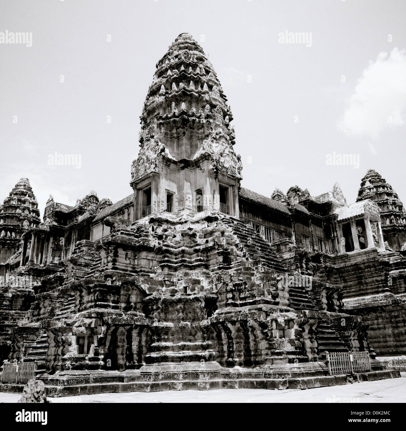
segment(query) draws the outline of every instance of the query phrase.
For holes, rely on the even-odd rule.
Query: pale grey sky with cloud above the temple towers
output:
[[[131,194],[156,62],[189,32],[230,103],[243,187],[317,196],[337,181],[351,203],[375,169],[405,202],[405,16],[404,0],[3,0],[0,201],[22,177],[41,216],[50,194]]]

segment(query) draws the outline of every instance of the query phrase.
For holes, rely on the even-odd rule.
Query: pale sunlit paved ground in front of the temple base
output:
[[[219,389],[51,398],[63,403],[405,403],[406,373],[402,378],[297,390]],[[16,403],[20,394],[0,393],[0,403]]]

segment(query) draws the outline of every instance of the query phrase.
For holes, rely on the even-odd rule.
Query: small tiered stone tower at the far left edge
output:
[[[22,234],[41,222],[37,199],[27,178],[10,191],[0,206],[0,275],[4,264],[19,249]]]

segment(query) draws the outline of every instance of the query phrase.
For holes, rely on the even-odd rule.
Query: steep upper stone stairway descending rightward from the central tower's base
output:
[[[279,272],[287,271],[282,265],[280,257],[271,249],[270,243],[255,232],[251,225],[245,225],[244,222],[235,218],[224,219],[223,222],[239,238],[249,262],[255,262],[256,265]]]

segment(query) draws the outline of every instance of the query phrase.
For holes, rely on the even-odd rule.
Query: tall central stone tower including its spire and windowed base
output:
[[[134,219],[153,212],[220,210],[238,216],[241,158],[227,98],[188,33],[157,62],[132,163]]]

